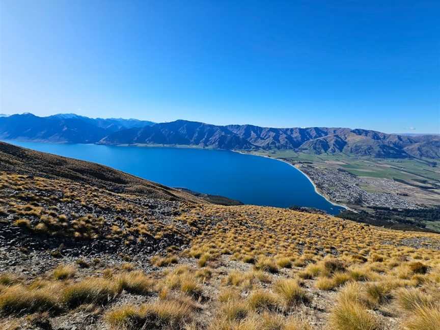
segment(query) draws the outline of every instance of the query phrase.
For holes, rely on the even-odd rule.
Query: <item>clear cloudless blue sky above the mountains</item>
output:
[[[0,1],[0,113],[440,132],[440,2]]]

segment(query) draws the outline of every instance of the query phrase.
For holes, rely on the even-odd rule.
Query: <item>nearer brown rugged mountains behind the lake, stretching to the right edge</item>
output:
[[[350,128],[270,128],[253,125],[215,126],[177,120],[141,129],[120,130],[101,144],[187,145],[229,150],[295,150],[358,156],[440,158],[440,136],[404,136]]]

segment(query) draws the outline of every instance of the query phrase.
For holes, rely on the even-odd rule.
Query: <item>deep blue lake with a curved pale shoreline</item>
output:
[[[225,150],[115,147],[6,141],[24,148],[100,163],[171,187],[221,195],[245,204],[341,207],[317,194],[309,179],[279,160]]]

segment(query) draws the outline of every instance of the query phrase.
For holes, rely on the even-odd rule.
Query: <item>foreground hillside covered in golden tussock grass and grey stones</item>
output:
[[[18,151],[0,158],[6,329],[440,327],[440,235],[118,190],[117,171],[66,178]]]

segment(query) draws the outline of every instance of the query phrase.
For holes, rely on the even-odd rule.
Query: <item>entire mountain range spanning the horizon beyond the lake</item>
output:
[[[218,126],[177,120],[153,123],[60,114],[0,118],[0,139],[105,145],[193,146],[227,150],[293,150],[387,158],[440,158],[439,135],[387,134],[340,127]]]

